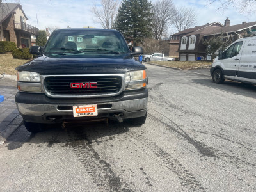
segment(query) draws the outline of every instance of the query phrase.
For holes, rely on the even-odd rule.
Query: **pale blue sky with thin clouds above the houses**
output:
[[[90,12],[92,4],[100,4],[100,0],[2,0],[3,3],[5,1],[8,3],[19,2],[29,18],[28,23],[33,26],[37,26],[37,12],[40,29],[45,29],[47,26],[67,28],[67,25],[71,26],[71,28],[83,28],[85,26],[100,28],[99,24],[93,22],[93,15]],[[231,20],[231,25],[241,24],[243,21],[256,21],[255,12],[239,13],[234,6],[221,9],[219,1],[209,4],[207,0],[173,0],[173,4],[176,7],[186,6],[194,8],[197,13],[197,23],[195,25],[198,26],[216,21],[223,24],[226,17]],[[169,33],[175,32],[174,28],[170,28]]]

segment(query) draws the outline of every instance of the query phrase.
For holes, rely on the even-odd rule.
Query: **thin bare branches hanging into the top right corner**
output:
[[[235,7],[239,13],[255,13],[255,0],[209,0],[210,4],[220,2],[219,10],[225,10],[227,7]]]

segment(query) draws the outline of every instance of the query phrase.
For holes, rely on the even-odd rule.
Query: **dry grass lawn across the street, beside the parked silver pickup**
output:
[[[150,61],[150,63],[156,63],[158,65],[165,65],[169,67],[177,67],[183,70],[200,67],[200,66],[211,66],[211,61]]]

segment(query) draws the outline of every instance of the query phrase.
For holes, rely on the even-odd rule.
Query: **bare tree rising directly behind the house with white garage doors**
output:
[[[193,8],[179,8],[175,15],[173,24],[175,28],[180,32],[190,28],[196,22],[196,12]]]

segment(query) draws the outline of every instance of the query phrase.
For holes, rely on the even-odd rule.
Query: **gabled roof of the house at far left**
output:
[[[22,10],[22,6],[19,3],[0,3],[0,22],[3,22],[7,17],[9,17],[17,7],[20,7]],[[22,10],[24,16],[26,17],[24,11]],[[26,17],[28,20],[28,17]]]

